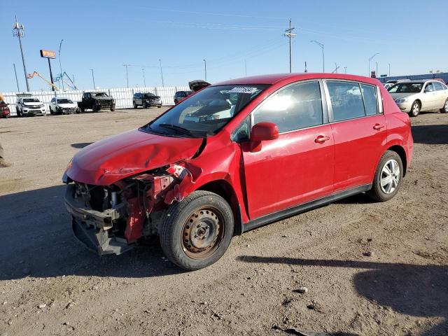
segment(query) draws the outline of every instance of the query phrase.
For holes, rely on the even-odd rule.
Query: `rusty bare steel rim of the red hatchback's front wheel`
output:
[[[224,228],[218,211],[209,208],[197,209],[183,225],[183,251],[190,258],[202,259],[216,251],[221,244]]]

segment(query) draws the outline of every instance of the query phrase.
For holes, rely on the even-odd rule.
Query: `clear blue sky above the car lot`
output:
[[[99,87],[186,85],[204,78],[211,82],[247,75],[288,71],[288,40],[282,36],[293,20],[293,71],[325,71],[367,75],[368,59],[379,52],[378,72],[391,75],[448,71],[446,0],[432,1],[4,1],[0,11],[0,92],[20,89],[25,78],[18,38],[12,34],[14,15],[25,25],[27,71],[49,77],[42,48],[62,44],[62,68],[81,89],[92,88],[90,69]],[[53,73],[59,61],[52,61]],[[31,90],[48,88],[40,78]]]

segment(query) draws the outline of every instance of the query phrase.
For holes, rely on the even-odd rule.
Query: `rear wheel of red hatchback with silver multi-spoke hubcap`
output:
[[[386,151],[379,160],[372,189],[369,190],[367,195],[377,202],[391,200],[400,190],[403,173],[403,163],[400,155],[394,151]]]

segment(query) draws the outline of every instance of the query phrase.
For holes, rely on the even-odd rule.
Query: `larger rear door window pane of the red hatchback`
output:
[[[341,121],[365,116],[363,96],[358,83],[327,82],[333,120]]]

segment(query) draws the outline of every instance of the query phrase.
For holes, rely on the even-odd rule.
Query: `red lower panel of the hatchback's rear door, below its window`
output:
[[[335,139],[335,193],[372,183],[387,127],[384,115],[331,124]]]

